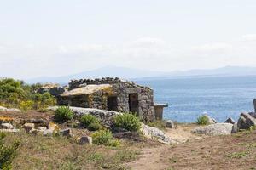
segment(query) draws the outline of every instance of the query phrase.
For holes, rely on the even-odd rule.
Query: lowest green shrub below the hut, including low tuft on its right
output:
[[[92,134],[92,142],[97,145],[106,145],[116,147],[119,145],[118,140],[113,139],[113,135],[109,130],[99,130]]]

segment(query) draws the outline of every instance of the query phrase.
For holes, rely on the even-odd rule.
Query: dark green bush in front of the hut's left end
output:
[[[60,106],[55,110],[55,121],[65,122],[73,119],[73,111],[67,106]]]

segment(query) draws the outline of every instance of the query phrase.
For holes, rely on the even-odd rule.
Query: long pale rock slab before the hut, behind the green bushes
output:
[[[55,111],[58,108],[58,106],[49,107],[49,110]],[[117,111],[106,111],[106,110],[100,110],[100,109],[94,109],[94,108],[82,108],[82,107],[69,107],[73,113],[76,116],[83,116],[83,115],[93,115],[98,117],[102,124],[105,127],[111,127],[113,125],[113,117],[117,115],[122,115],[122,113],[119,113]]]

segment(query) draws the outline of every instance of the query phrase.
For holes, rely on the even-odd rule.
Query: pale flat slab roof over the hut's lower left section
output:
[[[90,84],[82,88],[74,88],[73,90],[67,91],[61,96],[74,96],[74,95],[83,95],[83,94],[93,94],[96,91],[104,90],[106,88],[112,88],[110,84]]]

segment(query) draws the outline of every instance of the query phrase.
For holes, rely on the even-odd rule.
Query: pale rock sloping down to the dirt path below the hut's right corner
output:
[[[148,125],[143,124],[141,131],[145,137],[151,139],[157,139],[160,143],[163,144],[177,144],[177,141],[168,137],[163,131],[156,127],[149,127]]]

